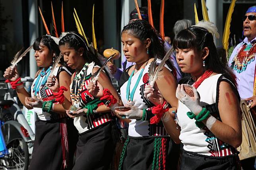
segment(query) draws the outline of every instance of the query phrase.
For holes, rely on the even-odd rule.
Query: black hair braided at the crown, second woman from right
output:
[[[124,26],[122,33],[124,31],[127,31],[128,34],[132,34],[134,37],[140,39],[141,42],[144,42],[147,38],[151,40],[151,44],[148,48],[149,58],[156,56],[158,59],[163,59],[165,56],[164,41],[160,38],[159,33],[155,31],[147,21],[140,19],[133,21]],[[166,61],[166,64],[170,69],[174,70],[174,67],[169,60]]]

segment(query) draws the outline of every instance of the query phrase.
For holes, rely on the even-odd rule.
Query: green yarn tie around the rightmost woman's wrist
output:
[[[187,112],[187,115],[189,118],[191,118],[191,119],[194,118],[196,120],[195,124],[198,128],[204,127],[204,123],[202,121],[205,120],[209,114],[210,114],[210,112],[208,110],[206,110],[205,107],[203,107],[202,111],[200,111],[200,113],[198,115],[195,115],[192,112]]]

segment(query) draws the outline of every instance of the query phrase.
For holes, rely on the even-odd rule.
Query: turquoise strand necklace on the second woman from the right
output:
[[[146,64],[143,66],[143,68],[142,68],[142,70],[141,70],[141,72],[139,74],[139,77],[138,77],[138,79],[137,79],[137,81],[136,81],[136,83],[135,83],[131,93],[130,93],[130,85],[131,85],[131,81],[132,81],[132,76],[134,75],[135,70],[138,71],[138,69],[134,68],[134,70],[132,71],[132,74],[130,75],[130,77],[128,79],[128,83],[127,83],[127,86],[126,86],[126,99],[127,99],[127,103],[130,104],[130,105],[134,105],[133,97],[134,97],[136,88],[138,87],[138,84],[140,82],[140,79],[142,78],[142,74],[143,74],[143,71],[144,71],[147,63],[148,63],[148,60],[147,60]]]

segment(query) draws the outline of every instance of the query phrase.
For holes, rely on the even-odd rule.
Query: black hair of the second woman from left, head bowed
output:
[[[86,41],[83,36],[81,36],[78,32],[72,31],[60,39],[59,46],[67,45],[69,48],[74,48],[76,52],[78,52],[79,48],[83,48],[83,58],[85,61],[87,63],[95,62],[95,64],[101,66],[97,53],[93,53],[90,47],[88,47],[85,43]]]

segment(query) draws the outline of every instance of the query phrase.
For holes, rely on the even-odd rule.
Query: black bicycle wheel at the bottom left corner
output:
[[[29,166],[29,152],[27,143],[22,138],[16,138],[6,143],[9,151],[7,157],[2,158],[8,170],[27,170]]]

